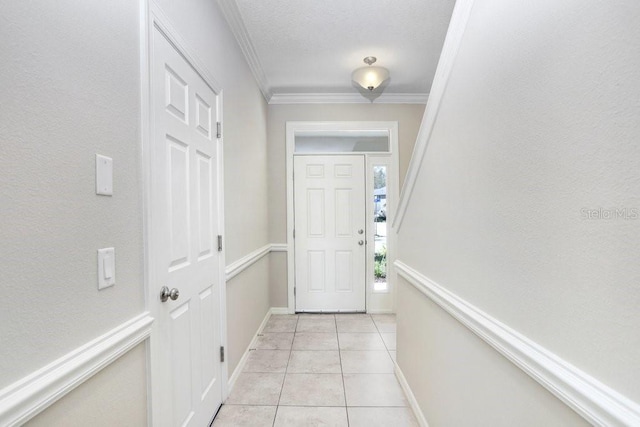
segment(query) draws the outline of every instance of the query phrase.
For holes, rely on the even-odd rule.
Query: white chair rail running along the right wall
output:
[[[494,319],[406,264],[398,274],[495,348],[588,422],[601,426],[640,425],[640,405],[548,349]]]

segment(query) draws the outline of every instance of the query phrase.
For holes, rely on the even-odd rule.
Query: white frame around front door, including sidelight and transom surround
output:
[[[381,130],[389,133],[389,153],[381,152],[356,152],[352,154],[365,156],[365,191],[369,191],[369,165],[370,159],[374,157],[387,156],[390,158],[390,173],[387,176],[392,176],[391,182],[391,197],[388,197],[387,210],[388,217],[393,218],[396,212],[397,202],[399,198],[399,153],[398,153],[398,122],[397,121],[290,121],[286,122],[286,180],[287,180],[287,310],[290,314],[294,314],[295,307],[295,241],[293,238],[294,229],[294,179],[293,179],[293,156],[295,148],[295,134],[297,131],[371,131]],[[349,153],[318,153],[319,155],[328,154],[340,154],[348,155]],[[313,155],[312,153],[305,153],[305,155]],[[367,221],[369,220],[370,212],[373,210],[372,198],[365,196],[367,209]],[[372,214],[371,214],[372,216]],[[365,283],[365,305],[367,313],[392,313],[395,311],[395,270],[393,269],[393,261],[396,254],[395,245],[395,232],[391,229],[391,222],[387,221],[387,239],[389,248],[387,252],[387,283],[389,283],[388,297],[390,303],[385,304],[388,307],[378,308],[372,307],[373,301],[373,289],[369,282]],[[367,240],[369,240],[369,230],[371,226],[367,224]],[[370,246],[370,245],[368,245]],[[367,249],[367,254],[369,249]],[[368,255],[367,255],[368,256]],[[373,258],[372,258],[373,259]],[[367,258],[367,280],[369,272],[370,260]]]

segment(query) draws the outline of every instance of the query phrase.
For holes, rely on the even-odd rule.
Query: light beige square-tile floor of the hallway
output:
[[[213,426],[417,426],[395,343],[394,315],[271,316]]]

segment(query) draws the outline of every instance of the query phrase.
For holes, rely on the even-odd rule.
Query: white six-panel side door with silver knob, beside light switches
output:
[[[157,29],[151,93],[153,425],[201,427],[222,400],[217,95]],[[162,302],[163,286],[179,297]]]

